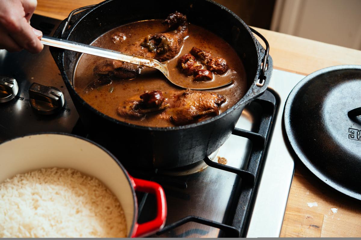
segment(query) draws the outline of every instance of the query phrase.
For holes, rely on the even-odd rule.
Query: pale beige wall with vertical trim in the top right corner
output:
[[[361,50],[361,0],[277,0],[271,30]]]

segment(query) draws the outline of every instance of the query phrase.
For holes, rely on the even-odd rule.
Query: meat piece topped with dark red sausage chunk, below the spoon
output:
[[[119,106],[117,113],[123,117],[142,118],[145,114],[162,111],[169,107],[168,99],[161,91],[145,92],[140,100],[126,100]]]

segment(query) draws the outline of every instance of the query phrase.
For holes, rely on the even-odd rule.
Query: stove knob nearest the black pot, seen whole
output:
[[[39,114],[49,115],[60,110],[65,103],[64,94],[56,87],[32,83],[29,88],[30,105]]]

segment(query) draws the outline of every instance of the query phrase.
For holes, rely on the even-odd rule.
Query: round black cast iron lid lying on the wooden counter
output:
[[[291,91],[284,108],[290,145],[311,172],[361,200],[361,65],[321,69]]]

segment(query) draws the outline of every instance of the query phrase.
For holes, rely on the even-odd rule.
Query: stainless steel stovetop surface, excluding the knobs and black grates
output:
[[[45,34],[51,34],[60,21],[34,15],[32,25]],[[78,122],[78,114],[71,102],[68,91],[62,81],[48,48],[42,53],[31,55],[22,51],[9,54],[0,50],[0,76],[12,77],[17,80],[19,92],[15,99],[0,103],[0,143],[7,139],[35,132],[68,132],[73,130]],[[260,181],[256,185],[254,204],[249,206],[249,221],[244,228],[243,236],[247,237],[278,237],[283,222],[288,193],[293,177],[294,163],[282,135],[282,113],[286,98],[293,86],[303,78],[302,75],[274,70],[269,89],[274,91],[277,99],[277,117],[273,133],[270,135],[265,156],[260,171]],[[54,86],[61,90],[65,97],[64,107],[56,114],[39,115],[29,104],[29,87],[37,82],[46,86]],[[274,98],[274,97],[272,97]],[[258,131],[257,127],[263,121],[264,109],[260,104],[252,103],[242,113],[237,128],[247,131]],[[274,119],[273,119],[274,120]],[[79,122],[78,122],[79,124]],[[252,142],[241,136],[231,135],[229,140],[213,154],[227,159],[226,166],[247,169]],[[21,150],[21,146],[19,146]],[[121,160],[121,159],[120,159]],[[197,166],[196,166],[197,167]],[[148,177],[147,173],[138,175]],[[235,186],[239,177],[231,172],[207,167],[203,171],[186,176],[173,176],[179,173],[163,173],[152,176],[162,184],[167,194],[168,218],[166,225],[174,223],[187,216],[197,216],[218,223],[227,223],[230,212],[235,212]],[[167,176],[171,175],[171,176]],[[144,199],[144,198],[143,198]],[[152,212],[152,200],[141,201],[140,221],[146,220]],[[151,214],[150,214],[151,215]],[[193,219],[194,220],[194,219]],[[199,222],[199,221],[198,221]],[[211,224],[212,225],[212,224]],[[157,236],[157,235],[155,235]],[[219,229],[190,221],[182,226],[164,232],[160,236],[168,237],[217,237]]]

